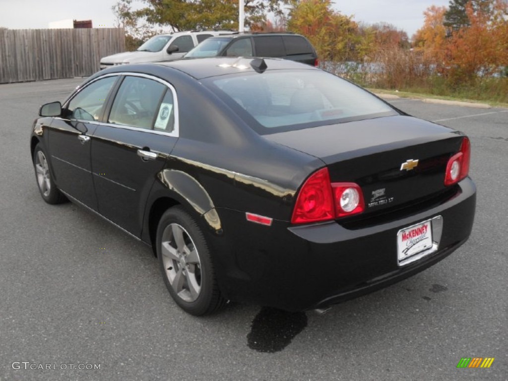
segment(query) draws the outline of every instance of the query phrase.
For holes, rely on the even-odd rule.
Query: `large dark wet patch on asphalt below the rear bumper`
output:
[[[282,351],[307,327],[305,312],[287,312],[263,307],[247,335],[249,348],[264,353]]]

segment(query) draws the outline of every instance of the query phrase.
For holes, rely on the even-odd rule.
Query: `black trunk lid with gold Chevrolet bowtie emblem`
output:
[[[409,116],[392,116],[265,135],[319,157],[332,182],[362,188],[368,215],[442,194],[449,158],[463,135]],[[414,166],[418,160],[418,165]],[[402,169],[405,164],[409,170]]]

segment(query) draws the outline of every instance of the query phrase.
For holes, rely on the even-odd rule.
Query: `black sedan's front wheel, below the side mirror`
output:
[[[48,204],[61,204],[66,202],[67,198],[60,192],[53,181],[47,155],[40,144],[37,144],[34,149],[34,170],[39,192],[42,199]]]

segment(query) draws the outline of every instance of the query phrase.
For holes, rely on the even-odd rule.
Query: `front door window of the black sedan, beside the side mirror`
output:
[[[99,120],[109,90],[117,79],[118,76],[102,78],[79,91],[67,106],[67,117],[78,120]]]

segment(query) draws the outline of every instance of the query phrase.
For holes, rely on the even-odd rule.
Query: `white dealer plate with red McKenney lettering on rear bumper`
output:
[[[432,248],[432,222],[424,221],[399,230],[397,233],[397,256],[399,265],[417,260]],[[428,253],[430,253],[429,250]],[[418,256],[418,254],[420,255]]]

